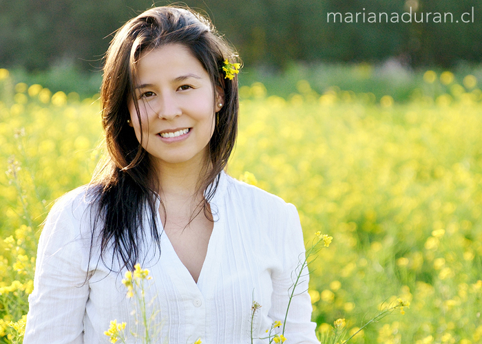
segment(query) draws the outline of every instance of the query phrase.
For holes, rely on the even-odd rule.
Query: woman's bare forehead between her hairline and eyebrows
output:
[[[169,43],[147,50],[140,54],[136,62],[137,82],[160,77],[169,80],[188,74],[209,79],[205,67],[198,58],[188,47],[179,43]]]

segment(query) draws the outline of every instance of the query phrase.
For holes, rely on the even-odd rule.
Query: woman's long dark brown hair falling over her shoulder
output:
[[[147,237],[154,239],[153,244],[160,250],[161,233],[156,222],[158,180],[153,178],[154,165],[149,154],[127,123],[130,118],[127,104],[129,100],[134,103],[140,122],[134,95],[136,62],[143,52],[169,43],[187,47],[209,74],[213,92],[217,87],[224,92],[224,105],[216,114],[208,161],[198,184],[198,192],[205,195],[200,204],[201,210],[208,218],[209,201],[216,193],[220,172],[235,144],[238,79],[224,78],[222,63],[225,59],[237,62],[237,55],[211,22],[187,8],[158,7],[125,23],[112,39],[105,55],[101,100],[108,155],[105,162],[99,164],[88,189],[96,204],[93,228],[98,228],[98,233],[92,230],[92,242],[95,237],[100,238],[100,258],[106,266],[112,266],[112,262],[107,265],[104,260],[107,248],[113,250],[112,259],[118,259],[120,268],[129,270],[142,259],[140,248]]]

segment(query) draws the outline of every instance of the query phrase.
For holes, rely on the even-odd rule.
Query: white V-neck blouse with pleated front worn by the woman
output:
[[[85,187],[52,207],[39,241],[23,343],[109,343],[104,332],[114,319],[127,323],[125,333],[142,333],[134,299],[126,297],[121,282],[125,270],[106,268],[118,266],[112,255],[98,261],[97,244],[89,263],[92,208]],[[304,259],[295,206],[223,172],[211,211],[215,222],[198,283],[167,235],[161,235],[160,254],[154,244],[144,247],[140,264],[152,277],[145,296],[152,301],[148,312],[159,311],[152,322],[155,343],[190,344],[198,338],[203,344],[251,343],[253,300],[261,305],[253,338],[266,336],[273,321],[284,321],[294,271]],[[319,343],[306,272],[291,301],[284,344]]]

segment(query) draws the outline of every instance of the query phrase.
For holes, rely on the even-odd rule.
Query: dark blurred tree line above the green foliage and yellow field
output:
[[[480,0],[185,0],[202,10],[247,65],[383,61],[450,67],[482,58]],[[29,72],[74,63],[96,70],[112,33],[153,0],[0,0],[0,67]],[[157,6],[167,1],[156,1]],[[472,12],[472,23],[328,23],[328,12]],[[361,18],[361,17],[360,17]],[[468,19],[468,17],[466,17]]]

